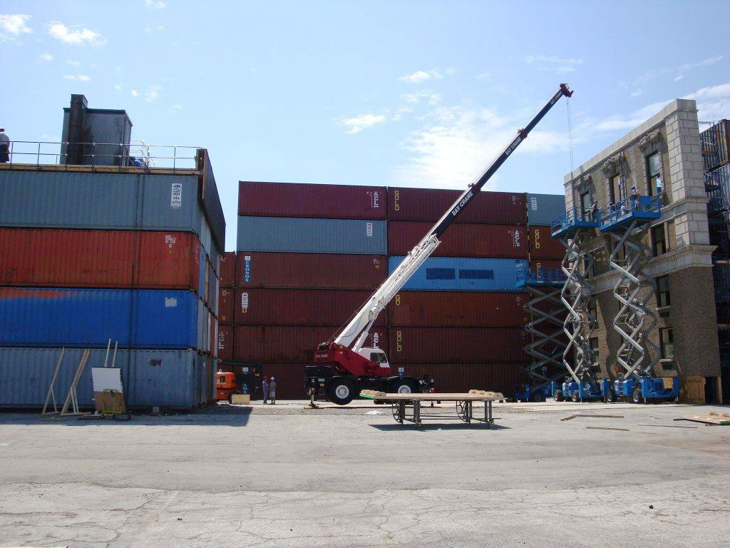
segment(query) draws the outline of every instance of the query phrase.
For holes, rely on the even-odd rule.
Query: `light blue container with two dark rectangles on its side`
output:
[[[388,272],[404,257],[388,258]],[[463,257],[429,257],[403,286],[405,291],[518,291],[518,270],[526,267],[524,259],[466,259]],[[521,290],[520,290],[521,291]]]

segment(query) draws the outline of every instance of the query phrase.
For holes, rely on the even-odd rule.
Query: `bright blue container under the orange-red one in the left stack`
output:
[[[201,348],[193,292],[0,288],[0,346]]]

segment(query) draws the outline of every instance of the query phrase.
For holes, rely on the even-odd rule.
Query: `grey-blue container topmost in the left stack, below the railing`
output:
[[[195,175],[2,171],[0,226],[196,232],[217,269],[198,183]]]

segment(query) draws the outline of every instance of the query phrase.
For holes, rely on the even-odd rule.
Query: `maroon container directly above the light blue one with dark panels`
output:
[[[405,255],[431,229],[431,223],[388,222],[388,254]],[[452,224],[434,256],[527,258],[525,227],[509,224]]]

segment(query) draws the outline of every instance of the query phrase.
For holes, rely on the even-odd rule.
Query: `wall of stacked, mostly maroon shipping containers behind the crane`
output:
[[[261,363],[265,376],[278,377],[281,397],[303,397],[304,365],[318,343],[459,194],[239,183],[235,289],[221,289],[219,297],[221,303],[232,297],[235,327],[221,329],[220,355]],[[552,214],[543,205],[551,198],[536,197],[535,209]],[[562,256],[549,228],[531,235],[528,212],[525,194],[477,194],[374,325],[371,342],[388,351],[394,374],[431,373],[441,392],[511,392],[526,380],[526,295],[516,290],[517,272],[532,251],[538,267]]]

